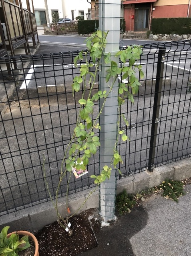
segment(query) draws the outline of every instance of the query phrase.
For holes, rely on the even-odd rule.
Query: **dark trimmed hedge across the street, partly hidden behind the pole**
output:
[[[78,34],[90,34],[94,33],[95,28],[99,28],[99,20],[78,20]],[[125,32],[125,20],[121,18],[120,28]]]

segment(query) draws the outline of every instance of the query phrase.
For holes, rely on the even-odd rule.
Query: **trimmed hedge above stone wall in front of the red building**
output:
[[[151,31],[153,34],[191,33],[191,18],[152,18]]]

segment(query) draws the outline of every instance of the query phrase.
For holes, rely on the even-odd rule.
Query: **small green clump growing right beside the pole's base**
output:
[[[119,193],[115,201],[115,209],[119,215],[123,213],[129,213],[130,208],[136,205],[136,201],[133,195],[127,194],[127,191],[124,189],[123,192]]]

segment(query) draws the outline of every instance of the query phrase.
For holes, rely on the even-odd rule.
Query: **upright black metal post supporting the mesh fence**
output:
[[[155,96],[154,96],[154,104],[153,104],[153,118],[152,118],[152,126],[151,126],[151,140],[149,147],[149,164],[148,170],[153,172],[153,164],[155,160],[155,148],[156,148],[156,140],[157,140],[157,128],[159,123],[159,110],[161,104],[161,90],[163,84],[163,72],[164,72],[164,63],[166,61],[165,57],[166,48],[160,47],[158,53],[158,61],[157,61],[157,76],[156,76],[156,84],[155,84]]]

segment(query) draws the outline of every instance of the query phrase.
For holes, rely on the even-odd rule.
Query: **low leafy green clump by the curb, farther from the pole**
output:
[[[162,196],[178,202],[179,197],[185,195],[183,183],[176,180],[165,180],[159,185],[163,189]]]

